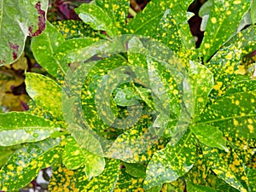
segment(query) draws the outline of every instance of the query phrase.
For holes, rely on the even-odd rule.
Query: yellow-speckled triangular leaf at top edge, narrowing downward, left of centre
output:
[[[109,17],[113,20],[113,24],[118,29],[118,34],[124,31],[128,10],[130,7],[129,0],[96,0],[96,4],[108,13]]]

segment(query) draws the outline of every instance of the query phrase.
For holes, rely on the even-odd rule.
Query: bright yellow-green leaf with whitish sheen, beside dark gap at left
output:
[[[63,119],[61,107],[61,87],[52,79],[37,73],[26,73],[26,91],[41,107],[55,119]]]

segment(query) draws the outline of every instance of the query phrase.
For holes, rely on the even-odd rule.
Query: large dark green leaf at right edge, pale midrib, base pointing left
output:
[[[254,102],[255,93],[242,92],[225,96],[201,113],[197,125],[215,126],[224,132],[224,137],[256,137]]]

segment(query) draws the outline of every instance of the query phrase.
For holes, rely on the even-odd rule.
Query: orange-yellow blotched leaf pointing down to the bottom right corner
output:
[[[245,167],[233,149],[222,153],[217,148],[203,148],[203,154],[211,161],[211,169],[217,176],[233,188],[247,191]]]

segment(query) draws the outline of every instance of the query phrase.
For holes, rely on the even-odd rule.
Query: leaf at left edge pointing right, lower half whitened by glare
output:
[[[30,113],[0,113],[0,145],[41,141],[60,131],[57,127],[52,121]]]

